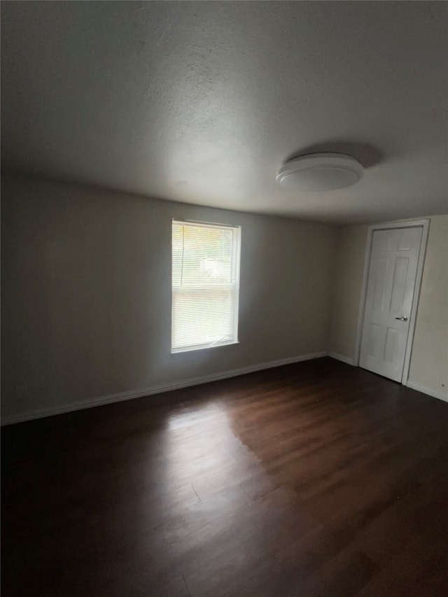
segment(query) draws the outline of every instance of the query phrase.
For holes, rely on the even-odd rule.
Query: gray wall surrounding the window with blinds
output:
[[[1,198],[3,416],[327,349],[333,227],[31,178]],[[239,344],[170,354],[172,218],[241,225]]]

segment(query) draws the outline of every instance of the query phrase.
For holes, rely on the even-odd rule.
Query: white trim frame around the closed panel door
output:
[[[423,275],[423,264],[425,262],[426,244],[428,243],[428,232],[429,232],[430,220],[405,220],[405,222],[386,222],[382,224],[374,224],[369,226],[367,232],[367,245],[365,248],[365,259],[364,259],[364,270],[363,270],[363,283],[361,286],[360,303],[358,310],[358,330],[356,332],[356,345],[355,345],[355,356],[353,358],[353,365],[359,366],[361,342],[363,339],[363,325],[364,325],[364,312],[365,312],[365,300],[367,297],[367,280],[369,278],[370,270],[370,257],[372,255],[372,241],[373,233],[376,230],[394,230],[398,228],[422,228],[419,260],[417,261],[417,271],[415,276],[414,296],[412,297],[412,307],[409,314],[409,331],[407,332],[407,341],[405,349],[405,363],[403,364],[403,372],[401,376],[401,384],[407,384],[407,378],[409,375],[409,365],[411,363],[412,344],[414,342],[414,329],[416,323],[417,307],[419,306],[421,278]]]

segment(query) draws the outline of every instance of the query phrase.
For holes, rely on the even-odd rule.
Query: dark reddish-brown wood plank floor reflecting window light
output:
[[[5,597],[448,595],[448,404],[330,358],[2,448]]]

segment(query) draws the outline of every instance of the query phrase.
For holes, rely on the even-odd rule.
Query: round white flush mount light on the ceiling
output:
[[[288,190],[322,192],[349,187],[362,176],[362,164],[350,155],[310,153],[283,164],[276,181]]]

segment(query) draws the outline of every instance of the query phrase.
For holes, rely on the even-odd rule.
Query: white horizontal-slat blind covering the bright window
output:
[[[239,226],[173,220],[172,352],[238,342]]]

